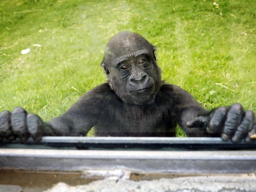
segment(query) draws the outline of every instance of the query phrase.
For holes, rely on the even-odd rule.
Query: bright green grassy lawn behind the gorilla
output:
[[[104,47],[128,30],[158,47],[163,79],[207,109],[256,112],[255,10],[255,0],[0,0],[0,111],[62,114],[106,81]]]

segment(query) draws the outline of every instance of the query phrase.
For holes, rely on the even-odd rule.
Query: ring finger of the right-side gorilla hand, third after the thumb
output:
[[[252,111],[246,111],[245,116],[241,124],[237,127],[237,130],[232,137],[233,142],[240,142],[245,138],[250,130],[252,130],[255,122],[255,116]]]

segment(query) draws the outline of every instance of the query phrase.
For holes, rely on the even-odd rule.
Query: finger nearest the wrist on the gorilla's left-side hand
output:
[[[27,127],[28,132],[35,141],[40,141],[42,139],[44,122],[36,114],[28,114],[27,116]]]

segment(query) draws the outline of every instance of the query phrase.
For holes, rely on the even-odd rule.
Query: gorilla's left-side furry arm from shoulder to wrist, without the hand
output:
[[[85,136],[97,123],[104,106],[104,84],[95,87],[84,94],[63,115],[48,122],[54,127],[56,136]]]

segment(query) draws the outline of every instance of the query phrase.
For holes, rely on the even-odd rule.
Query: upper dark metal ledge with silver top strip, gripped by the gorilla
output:
[[[210,137],[43,137],[25,143],[1,141],[0,148],[82,150],[256,150],[254,143],[232,143]]]

